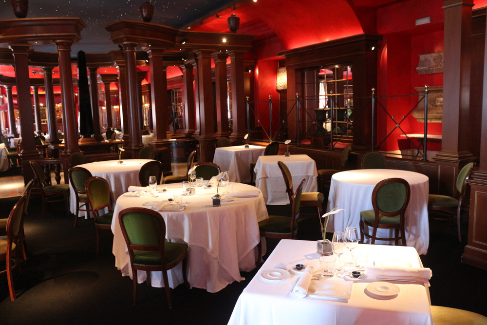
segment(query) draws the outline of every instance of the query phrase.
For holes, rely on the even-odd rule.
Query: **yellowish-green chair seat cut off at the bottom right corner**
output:
[[[487,317],[463,309],[431,306],[434,325],[487,325]]]

